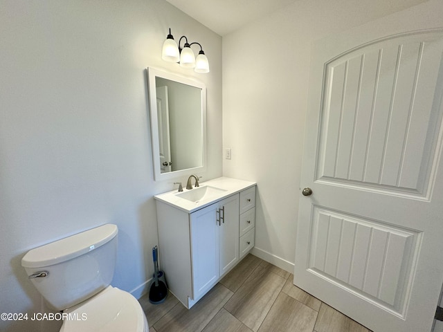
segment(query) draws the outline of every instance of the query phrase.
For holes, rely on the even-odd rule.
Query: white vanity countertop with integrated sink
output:
[[[183,192],[179,192],[176,189],[155,195],[154,199],[172,205],[174,208],[192,213],[230,195],[237,194],[237,192],[253,187],[254,185],[256,185],[255,182],[238,180],[237,178],[226,178],[223,176],[201,182],[200,187],[195,187],[190,190],[183,188]],[[192,192],[193,190],[194,192]],[[206,195],[204,192],[206,192]],[[194,193],[201,193],[204,196],[201,199],[190,199],[189,197],[192,197]],[[188,198],[186,199],[184,197]]]

